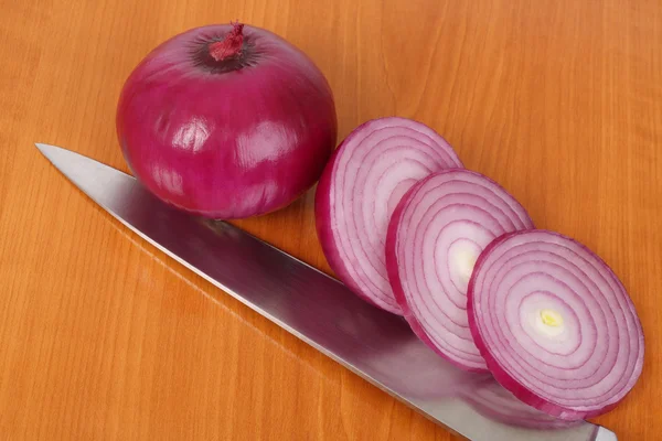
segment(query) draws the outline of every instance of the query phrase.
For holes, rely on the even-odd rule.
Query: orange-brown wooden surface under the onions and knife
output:
[[[340,138],[419,119],[544,228],[598,251],[647,335],[643,375],[596,419],[662,432],[659,0],[0,0],[0,439],[449,440],[421,416],[175,265],[43,159],[126,170],[115,106],[164,39],[241,19],[306,51]],[[237,223],[328,270],[312,193]]]

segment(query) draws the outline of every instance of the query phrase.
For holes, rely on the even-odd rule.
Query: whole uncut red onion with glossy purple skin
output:
[[[157,197],[216,219],[279,209],[310,189],[337,142],[333,94],[306,54],[245,25],[241,55],[209,45],[231,24],[196,28],[156,47],[128,77],[117,136]]]

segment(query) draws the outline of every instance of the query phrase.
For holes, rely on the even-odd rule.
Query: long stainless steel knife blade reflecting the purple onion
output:
[[[489,404],[477,404],[479,394],[473,394],[493,380],[442,361],[402,318],[369,305],[335,279],[227,223],[190,216],[161,203],[130,175],[58,147],[36,147],[145,240],[447,429],[489,441],[617,439],[586,421],[572,428],[533,429],[498,418],[499,409],[485,411]],[[524,421],[528,426],[544,419],[534,409],[526,415],[536,416]]]

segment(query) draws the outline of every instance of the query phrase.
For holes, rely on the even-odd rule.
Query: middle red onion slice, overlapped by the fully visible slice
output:
[[[386,240],[388,276],[405,319],[455,365],[487,372],[467,320],[467,284],[484,247],[533,228],[526,211],[494,181],[455,169],[421,180],[402,198]]]

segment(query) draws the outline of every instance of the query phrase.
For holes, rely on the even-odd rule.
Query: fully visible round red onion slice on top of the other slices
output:
[[[552,416],[604,413],[641,374],[643,332],[622,283],[560,234],[520,232],[490,244],[469,283],[468,314],[494,378]]]

